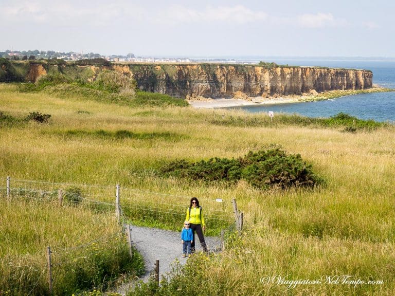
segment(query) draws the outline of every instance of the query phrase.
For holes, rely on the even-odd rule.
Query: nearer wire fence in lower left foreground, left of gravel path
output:
[[[146,273],[130,238],[121,230],[77,246],[48,247],[46,256],[0,260],[0,295],[50,295],[67,290],[107,290]]]

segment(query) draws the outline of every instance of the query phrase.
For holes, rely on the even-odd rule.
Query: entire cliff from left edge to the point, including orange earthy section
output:
[[[249,97],[299,95],[336,89],[372,87],[369,70],[322,67],[260,67],[225,64],[112,64],[76,65],[45,62],[0,61],[0,82],[34,82],[46,73],[63,73],[71,79],[89,81],[103,69],[132,76],[141,90],[173,97],[232,98],[237,92]],[[10,74],[11,73],[11,74]]]

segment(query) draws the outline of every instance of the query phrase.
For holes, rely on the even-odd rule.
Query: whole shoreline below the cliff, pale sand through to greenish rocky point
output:
[[[391,88],[372,87],[368,89],[350,89],[350,90],[329,90],[323,93],[312,91],[310,94],[290,95],[290,96],[273,96],[273,97],[247,97],[232,99],[212,99],[204,97],[187,98],[190,106],[197,109],[226,108],[238,106],[255,106],[255,105],[278,105],[286,103],[315,102],[322,100],[335,99],[357,94],[384,93],[395,91]],[[238,96],[239,97],[239,96]]]

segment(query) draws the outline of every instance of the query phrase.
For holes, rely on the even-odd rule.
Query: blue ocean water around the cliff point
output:
[[[277,64],[295,66],[323,66],[333,68],[367,69],[373,72],[373,84],[395,88],[395,61],[344,61],[344,60],[271,60]],[[273,111],[299,114],[308,117],[330,117],[340,112],[361,119],[395,122],[395,91],[340,97],[318,102],[301,102],[279,105],[242,106],[237,109],[249,113]]]

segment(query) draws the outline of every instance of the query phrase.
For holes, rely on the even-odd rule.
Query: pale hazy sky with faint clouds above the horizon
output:
[[[0,51],[395,57],[393,0],[0,0]]]

